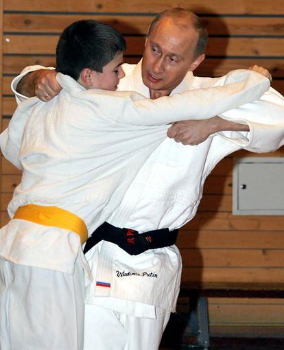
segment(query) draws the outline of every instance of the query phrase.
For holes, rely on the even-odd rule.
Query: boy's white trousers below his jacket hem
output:
[[[0,259],[0,349],[82,350],[84,272],[74,275]]]

